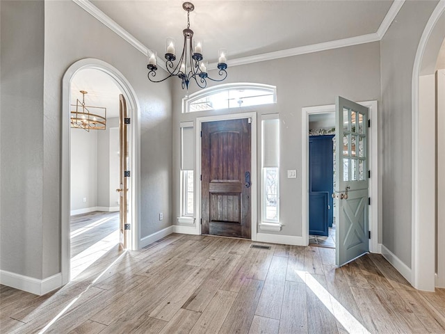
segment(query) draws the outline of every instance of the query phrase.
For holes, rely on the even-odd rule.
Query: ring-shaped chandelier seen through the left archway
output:
[[[106,108],[102,106],[87,106],[85,104],[85,95],[88,94],[85,90],[80,90],[82,93],[82,102],[76,99],[76,110],[71,111],[71,127],[76,129],[84,129],[88,132],[90,130],[104,130],[106,129]],[[90,112],[94,111],[95,113]]]

